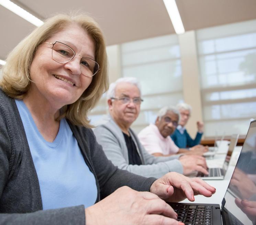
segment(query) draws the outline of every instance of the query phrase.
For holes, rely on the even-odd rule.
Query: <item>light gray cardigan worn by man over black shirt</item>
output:
[[[129,165],[128,150],[120,127],[109,116],[105,124],[94,129],[97,142],[102,145],[106,156],[118,166],[119,169],[144,177],[162,177],[167,172],[175,171],[182,173],[183,167],[178,158],[180,155],[169,157],[154,157],[147,153],[140,144],[137,135],[129,129],[132,139],[136,145],[138,154],[143,165]]]

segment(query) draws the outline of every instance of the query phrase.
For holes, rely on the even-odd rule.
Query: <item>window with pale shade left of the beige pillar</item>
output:
[[[160,108],[182,100],[182,72],[177,35],[166,35],[121,45],[123,77],[136,77],[142,86],[141,113],[132,124],[140,132],[154,123]]]

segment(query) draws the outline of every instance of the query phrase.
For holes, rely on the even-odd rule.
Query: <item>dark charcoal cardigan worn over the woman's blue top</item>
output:
[[[118,169],[107,159],[91,129],[68,123],[96,179],[96,202],[124,185],[149,191],[155,178]],[[40,186],[19,111],[14,99],[1,90],[0,124],[0,225],[85,225],[84,205],[42,210]]]

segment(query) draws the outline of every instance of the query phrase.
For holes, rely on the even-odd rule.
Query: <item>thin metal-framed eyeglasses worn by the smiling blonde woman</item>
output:
[[[52,57],[58,63],[65,64],[71,59],[73,59],[75,55],[79,55],[79,54],[76,54],[72,48],[70,48],[68,45],[64,43],[61,43],[61,42],[55,42],[55,43],[44,42],[44,43],[52,45]],[[92,77],[100,70],[100,66],[96,61],[94,61],[91,58],[81,57],[80,70],[81,70],[81,73],[86,77]]]

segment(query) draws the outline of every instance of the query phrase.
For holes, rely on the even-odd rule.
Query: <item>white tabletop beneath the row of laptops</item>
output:
[[[227,168],[226,175],[224,180],[205,180],[211,186],[216,188],[216,193],[213,194],[210,198],[207,198],[202,195],[195,196],[194,203],[210,203],[210,204],[220,204],[226,193],[227,187],[229,185],[230,179],[232,177],[235,165],[238,159],[238,156],[241,152],[242,146],[236,146],[234,152],[230,159],[229,167]],[[216,154],[214,159],[207,159],[208,167],[222,167],[225,161],[226,154]],[[188,199],[183,200],[182,202],[191,203]]]

